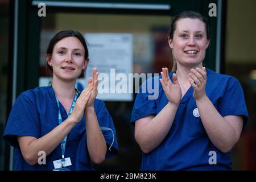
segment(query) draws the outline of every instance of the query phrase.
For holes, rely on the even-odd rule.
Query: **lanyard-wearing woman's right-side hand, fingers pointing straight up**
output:
[[[92,94],[89,98],[89,101],[85,105],[85,109],[88,109],[89,107],[94,107],[94,101],[95,98],[98,94],[98,72],[96,68],[93,68],[93,77],[89,78],[88,84],[93,82],[93,89],[92,89]]]

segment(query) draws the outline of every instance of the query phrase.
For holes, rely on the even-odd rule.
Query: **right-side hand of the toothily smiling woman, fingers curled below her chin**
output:
[[[194,89],[193,97],[195,100],[200,100],[205,94],[205,86],[207,83],[207,71],[205,67],[203,69],[196,68],[191,69],[191,73],[189,73],[189,77],[191,77],[188,81]]]

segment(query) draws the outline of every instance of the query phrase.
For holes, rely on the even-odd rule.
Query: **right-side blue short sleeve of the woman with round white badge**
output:
[[[248,111],[245,103],[242,86],[235,78],[230,78],[224,96],[218,102],[219,112],[225,115],[241,115],[243,117],[243,127],[248,120]]]

